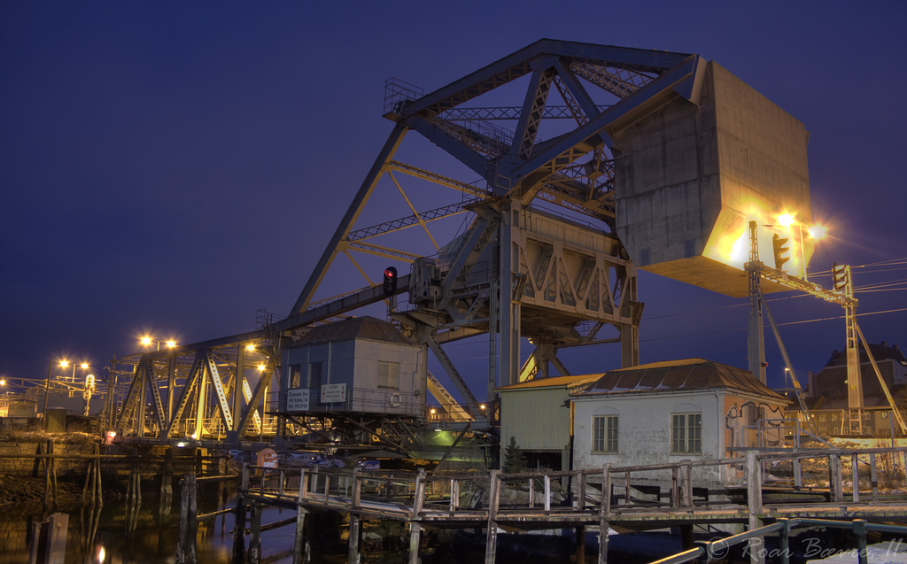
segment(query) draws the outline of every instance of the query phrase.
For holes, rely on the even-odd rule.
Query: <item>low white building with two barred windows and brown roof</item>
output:
[[[612,370],[571,396],[573,466],[599,469],[741,456],[782,440],[787,400],[749,371],[702,358]],[[695,481],[722,481],[717,467]]]

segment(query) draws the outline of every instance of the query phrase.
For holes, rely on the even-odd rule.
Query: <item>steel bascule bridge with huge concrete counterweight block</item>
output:
[[[565,347],[615,343],[619,365],[637,365],[638,267],[744,297],[748,221],[812,216],[802,123],[697,54],[542,39],[434,92],[389,80],[384,117],[393,129],[288,316],[142,355],[125,433],[218,427],[241,440],[267,413],[277,433],[306,426],[288,413],[281,351],[382,302],[444,368],[459,397],[431,374],[428,388],[446,404],[492,402],[496,387],[551,367],[569,374]],[[464,339],[487,342],[484,389],[445,350]],[[258,374],[247,344],[262,355]],[[149,394],[151,423],[131,407]],[[393,426],[334,417],[320,415],[319,431],[346,418],[372,440]]]

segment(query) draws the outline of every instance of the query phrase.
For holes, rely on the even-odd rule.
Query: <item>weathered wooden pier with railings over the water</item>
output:
[[[886,476],[901,483],[900,491],[880,488],[877,461],[888,457]],[[825,487],[808,484],[803,464],[821,461],[827,471]],[[766,481],[764,469],[778,461],[794,461],[796,475]],[[783,519],[907,521],[907,449],[824,450],[800,452],[747,451],[746,456],[717,461],[610,467],[572,472],[500,471],[430,475],[423,471],[379,472],[320,468],[264,468],[246,465],[240,485],[237,522],[245,527],[245,512],[260,515],[263,506],[297,510],[294,562],[310,554],[306,517],[311,511],[349,515],[349,562],[360,558],[362,520],[400,520],[409,526],[408,562],[418,561],[420,537],[426,529],[486,531],[486,564],[493,564],[499,530],[573,529],[583,539],[587,528],[599,531],[600,563],[607,562],[609,530],[652,530],[680,527],[692,544],[695,525],[736,523],[755,530]],[[719,489],[697,488],[697,467],[735,467],[736,483]],[[861,472],[861,466],[868,472]],[[847,472],[845,472],[845,469]],[[813,471],[814,472],[814,471]],[[648,477],[642,480],[641,476]],[[653,487],[652,477],[666,487]],[[642,483],[645,481],[646,484]],[[648,484],[648,485],[647,485]],[[561,496],[555,496],[560,491]],[[602,495],[602,492],[607,492]],[[641,491],[649,491],[643,495]],[[652,493],[652,491],[655,491]],[[255,510],[254,508],[258,508]],[[687,534],[688,533],[688,534]],[[242,535],[238,535],[242,538]],[[252,540],[250,547],[256,545]],[[685,547],[686,548],[686,547]],[[254,562],[251,553],[249,561]],[[582,542],[577,546],[583,561]]]

